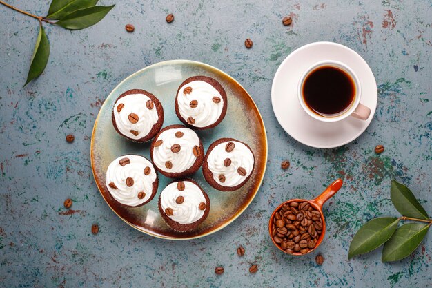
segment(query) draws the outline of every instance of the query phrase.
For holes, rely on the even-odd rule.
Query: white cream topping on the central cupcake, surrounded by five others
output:
[[[183,136],[176,137],[176,132],[183,133]],[[157,140],[162,140],[162,144],[153,148],[153,162],[162,171],[180,173],[192,167],[197,160],[197,157],[193,155],[193,147],[199,147],[199,138],[193,130],[189,128],[170,128],[162,132],[154,141]],[[174,144],[180,145],[180,151],[177,153],[171,151]],[[166,168],[165,164],[168,161],[173,164],[173,168]]]

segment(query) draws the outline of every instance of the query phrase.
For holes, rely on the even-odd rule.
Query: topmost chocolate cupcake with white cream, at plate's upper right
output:
[[[227,104],[225,90],[218,81],[194,76],[180,84],[175,97],[175,113],[185,125],[208,129],[222,122]]]

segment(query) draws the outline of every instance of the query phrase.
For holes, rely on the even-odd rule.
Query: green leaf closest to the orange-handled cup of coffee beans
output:
[[[376,218],[366,222],[349,245],[348,259],[380,247],[393,235],[398,223],[399,219],[393,217]]]

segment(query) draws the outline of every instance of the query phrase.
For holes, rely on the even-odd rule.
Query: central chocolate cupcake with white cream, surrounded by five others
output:
[[[195,173],[204,160],[204,148],[197,133],[183,125],[163,128],[150,146],[156,169],[166,177],[179,178]]]

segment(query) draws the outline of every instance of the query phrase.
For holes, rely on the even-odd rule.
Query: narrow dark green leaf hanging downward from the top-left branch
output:
[[[42,25],[39,26],[39,35],[37,35],[35,51],[33,52],[32,64],[30,64],[30,70],[28,70],[27,81],[32,81],[39,75],[42,74],[43,70],[48,63],[48,57],[50,56],[50,44],[48,38],[46,37],[45,30],[43,30]]]

